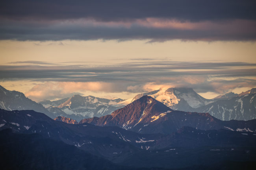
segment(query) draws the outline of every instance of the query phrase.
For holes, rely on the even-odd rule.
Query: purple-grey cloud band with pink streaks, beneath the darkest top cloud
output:
[[[255,20],[180,21],[168,18],[99,21],[3,20],[0,39],[15,40],[256,40]]]

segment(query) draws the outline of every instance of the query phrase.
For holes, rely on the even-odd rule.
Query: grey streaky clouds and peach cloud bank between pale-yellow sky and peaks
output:
[[[0,66],[0,80],[41,81],[26,93],[55,99],[85,91],[141,93],[161,87],[188,87],[199,93],[226,93],[256,86],[256,64],[245,62],[128,62],[116,65],[63,65],[15,62]],[[37,63],[37,64],[35,64]]]

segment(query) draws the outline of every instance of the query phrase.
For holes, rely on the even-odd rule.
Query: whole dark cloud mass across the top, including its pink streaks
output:
[[[0,39],[256,40],[251,0],[9,0]]]

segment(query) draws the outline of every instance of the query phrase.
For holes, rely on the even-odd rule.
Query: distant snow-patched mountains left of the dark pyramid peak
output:
[[[102,99],[93,96],[74,95],[58,101],[34,102],[19,91],[9,91],[0,86],[0,108],[5,110],[34,110],[45,113],[52,119],[57,116],[80,121],[84,118],[102,116],[121,108],[116,106],[122,99]]]

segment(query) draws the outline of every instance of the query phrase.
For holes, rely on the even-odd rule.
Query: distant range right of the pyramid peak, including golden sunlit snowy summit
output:
[[[213,99],[205,99],[191,88],[168,88],[141,93],[121,102],[129,104],[144,95],[149,95],[173,110],[210,113],[223,121],[256,119],[256,88],[240,94],[227,93]]]

